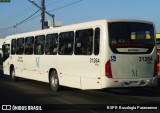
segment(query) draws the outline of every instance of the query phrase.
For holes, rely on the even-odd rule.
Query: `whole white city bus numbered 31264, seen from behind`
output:
[[[157,85],[154,24],[97,20],[8,36],[4,74],[79,89]]]

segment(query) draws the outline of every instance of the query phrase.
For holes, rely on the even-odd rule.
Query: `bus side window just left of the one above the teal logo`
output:
[[[34,44],[34,37],[25,38],[25,54],[26,55],[33,54],[33,44]]]

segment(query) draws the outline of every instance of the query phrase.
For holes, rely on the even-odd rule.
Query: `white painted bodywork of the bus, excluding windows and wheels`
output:
[[[134,87],[134,86],[153,86],[157,82],[157,77],[153,77],[154,63],[156,60],[156,50],[150,54],[115,54],[109,46],[108,23],[119,22],[122,20],[100,20],[88,23],[81,23],[54,29],[35,31],[9,36],[6,44],[11,45],[12,39],[26,38],[29,36],[47,35],[67,31],[100,28],[100,51],[98,55],[76,55],[75,43],[72,55],[10,55],[3,63],[4,74],[10,75],[10,66],[13,65],[17,77],[49,82],[50,70],[56,70],[59,84],[79,89],[102,89],[107,87]],[[135,22],[135,20],[123,20],[124,22]],[[142,23],[150,23],[137,21]],[[152,23],[150,23],[152,24]],[[74,42],[75,40],[74,36]],[[35,42],[34,42],[35,43]],[[94,44],[93,44],[94,46]],[[126,49],[126,48],[125,48]],[[119,51],[126,51],[121,48]],[[146,49],[141,49],[145,52]],[[140,62],[140,57],[152,57],[152,61]],[[113,60],[112,58],[116,58]],[[142,59],[141,59],[142,60]],[[111,62],[112,78],[106,76],[105,65]],[[136,83],[135,83],[136,81]]]

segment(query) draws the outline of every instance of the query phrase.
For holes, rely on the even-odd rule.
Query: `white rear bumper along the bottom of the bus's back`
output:
[[[110,79],[105,76],[102,77],[102,88],[157,86],[157,83],[158,76],[139,79]]]

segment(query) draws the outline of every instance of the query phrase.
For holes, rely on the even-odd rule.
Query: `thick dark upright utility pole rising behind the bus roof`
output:
[[[42,13],[41,13],[41,23],[42,23],[42,29],[45,28],[45,0],[41,1],[41,5],[42,5]]]

